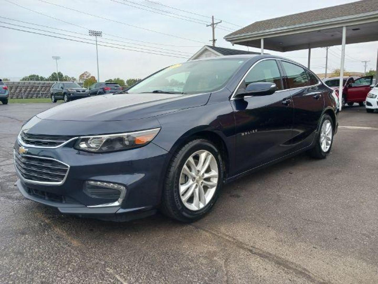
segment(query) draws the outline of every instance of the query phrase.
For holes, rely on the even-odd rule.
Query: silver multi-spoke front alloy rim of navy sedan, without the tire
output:
[[[197,211],[214,196],[218,185],[218,165],[206,150],[193,153],[185,162],[180,175],[180,197],[184,206]]]

